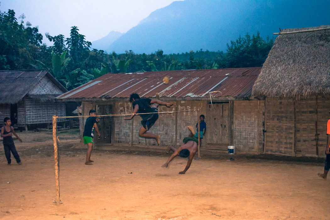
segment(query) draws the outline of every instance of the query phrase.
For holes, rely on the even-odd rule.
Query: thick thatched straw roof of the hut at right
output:
[[[329,27],[283,29],[281,33]],[[330,29],[280,34],[252,94],[295,98],[330,94]]]

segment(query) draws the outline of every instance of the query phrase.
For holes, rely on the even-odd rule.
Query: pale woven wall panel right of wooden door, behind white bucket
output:
[[[244,152],[261,152],[264,101],[234,101],[234,145]]]

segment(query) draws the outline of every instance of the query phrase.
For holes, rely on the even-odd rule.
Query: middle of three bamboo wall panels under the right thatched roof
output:
[[[316,99],[296,101],[296,156],[316,156]]]

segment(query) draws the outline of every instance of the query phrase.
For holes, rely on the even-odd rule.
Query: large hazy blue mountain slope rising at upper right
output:
[[[107,51],[182,53],[226,50],[226,44],[247,32],[273,37],[279,28],[330,24],[329,0],[186,0],[152,12]]]

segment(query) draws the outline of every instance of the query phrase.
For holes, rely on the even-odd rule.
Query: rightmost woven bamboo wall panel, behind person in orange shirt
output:
[[[327,122],[329,115],[330,99],[317,98],[317,134],[318,134],[318,156],[325,157],[325,147],[327,144]]]

